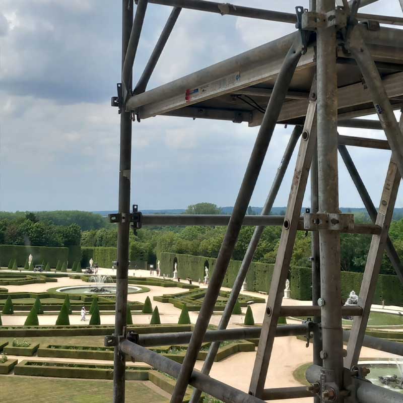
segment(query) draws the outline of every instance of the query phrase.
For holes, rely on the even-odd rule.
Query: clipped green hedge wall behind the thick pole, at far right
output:
[[[350,292],[360,292],[363,273],[342,272],[342,299],[347,299]],[[311,269],[309,267],[293,267],[291,269],[291,298],[311,300]],[[403,287],[397,276],[379,275],[375,289],[374,304],[403,304]]]

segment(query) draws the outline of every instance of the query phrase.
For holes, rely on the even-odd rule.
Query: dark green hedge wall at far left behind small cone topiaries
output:
[[[42,264],[44,260],[51,267],[56,267],[57,260],[69,258],[69,248],[50,246],[0,245],[0,266],[8,266],[10,259],[17,259],[17,265],[24,267],[25,260],[32,253],[33,264]],[[73,263],[72,263],[73,264]]]

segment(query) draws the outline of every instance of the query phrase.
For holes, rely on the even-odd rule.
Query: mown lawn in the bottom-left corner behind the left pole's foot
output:
[[[0,376],[2,403],[35,401],[35,403],[110,403],[113,381],[41,379],[37,376]],[[18,391],[16,396],[16,391]],[[168,399],[141,381],[126,381],[126,402],[165,403]]]

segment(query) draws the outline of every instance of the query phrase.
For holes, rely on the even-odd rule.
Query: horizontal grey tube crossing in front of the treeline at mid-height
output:
[[[142,226],[220,226],[228,225],[230,215],[220,214],[144,214],[142,216]],[[304,229],[304,219],[300,218],[298,230]],[[284,224],[284,216],[245,216],[242,225],[246,226],[282,226]],[[309,231],[309,230],[308,230]],[[355,224],[351,230],[345,230],[352,234],[379,234],[380,227],[375,224]]]

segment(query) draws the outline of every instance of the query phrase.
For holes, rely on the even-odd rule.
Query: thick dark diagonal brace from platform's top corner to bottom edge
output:
[[[241,188],[235,201],[234,210],[220,248],[216,267],[213,272],[209,288],[206,292],[204,302],[201,305],[183,364],[180,368],[179,377],[172,393],[171,403],[180,403],[183,400],[198,351],[201,343],[203,342],[204,334],[206,333],[207,326],[213,313],[214,305],[217,301],[231,255],[242,226],[243,218],[246,214],[246,210],[248,208],[268,145],[273,135],[281,107],[285,100],[286,92],[305,46],[306,44],[302,43],[300,33],[297,32],[295,34],[295,41],[284,59],[274,86],[272,97],[270,98],[264,113],[263,121],[259,128],[252,154],[242,180]]]

